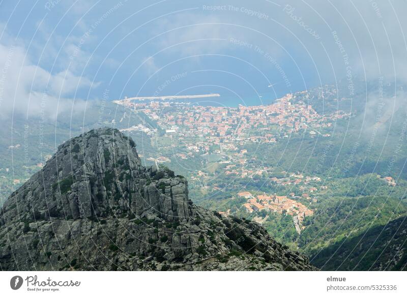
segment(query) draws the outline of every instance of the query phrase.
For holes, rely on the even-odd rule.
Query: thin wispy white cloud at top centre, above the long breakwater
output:
[[[242,21],[242,15],[236,12],[184,12],[161,20],[154,33],[159,35],[169,31],[158,37],[160,50],[178,52],[183,56],[227,53],[228,49],[236,48],[230,39],[277,54],[280,51],[278,46],[260,33],[261,23],[250,18],[247,21],[247,15],[243,17],[246,21]]]

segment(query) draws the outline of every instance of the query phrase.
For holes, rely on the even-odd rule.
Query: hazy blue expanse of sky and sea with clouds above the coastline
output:
[[[406,80],[405,12],[401,0],[0,1],[0,115],[52,115],[106,90],[279,97]]]

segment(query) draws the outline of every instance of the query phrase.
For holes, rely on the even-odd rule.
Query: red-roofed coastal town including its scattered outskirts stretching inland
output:
[[[334,121],[350,116],[342,111],[318,114],[304,98],[307,93],[300,92],[286,94],[269,105],[238,107],[202,106],[177,100],[122,100],[120,104],[157,123],[156,128],[145,123],[123,130],[143,131],[156,141],[157,153],[146,156],[147,161],[171,165],[171,162],[203,158],[210,163],[209,167],[199,165],[200,169],[188,176],[192,187],[205,189],[216,170],[217,174],[230,177],[270,177],[276,186],[306,186],[321,179],[286,172],[281,177],[273,176],[274,168],[267,163],[259,165],[258,156],[247,147],[260,143],[272,145],[300,132],[309,137],[330,137],[329,128]],[[158,129],[162,134],[154,137]],[[311,192],[316,190],[310,188]]]

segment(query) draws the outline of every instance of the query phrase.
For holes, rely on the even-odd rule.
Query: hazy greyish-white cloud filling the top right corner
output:
[[[276,18],[304,43],[322,75],[332,70],[321,43],[331,58],[338,79],[344,77],[343,54],[347,54],[349,64],[346,66],[351,66],[354,74],[360,77],[366,75],[368,80],[380,76],[394,78],[396,72],[397,79],[407,80],[404,71],[407,67],[406,2],[311,0],[306,4],[293,1],[290,5],[295,7],[294,14],[321,35],[321,40],[315,42],[286,13],[276,13]],[[332,31],[336,31],[344,52],[339,51]],[[293,42],[296,41],[293,39]],[[305,48],[299,46],[298,50],[306,55]]]

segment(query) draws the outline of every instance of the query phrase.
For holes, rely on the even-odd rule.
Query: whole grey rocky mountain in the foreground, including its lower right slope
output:
[[[199,208],[115,129],[62,144],[0,212],[1,270],[315,270],[257,223]]]

